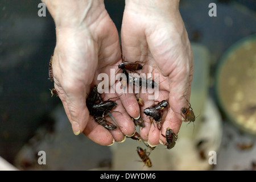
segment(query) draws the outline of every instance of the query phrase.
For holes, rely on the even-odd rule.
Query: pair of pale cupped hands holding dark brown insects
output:
[[[176,134],[182,121],[182,107],[187,106],[193,77],[193,54],[187,31],[179,13],[179,1],[126,0],[122,19],[121,40],[103,0],[42,0],[56,25],[56,47],[52,70],[54,86],[73,132],[84,133],[94,142],[109,146],[122,142],[135,132],[131,117],[144,119],[141,138],[156,146],[165,143],[165,131]],[[121,51],[122,49],[122,51]],[[117,107],[112,115],[119,127],[107,130],[94,121],[86,107],[90,89],[100,81],[100,73],[125,61],[139,61],[143,73],[159,73],[157,101],[168,100],[170,109],[162,129],[151,125],[143,109],[156,104],[146,93],[102,94],[103,100],[114,98]],[[161,82],[163,81],[163,82]],[[118,82],[118,81],[117,81]],[[116,83],[117,83],[116,82]],[[114,85],[110,85],[114,86]],[[137,97],[144,106],[139,107]],[[163,134],[163,135],[162,135]]]

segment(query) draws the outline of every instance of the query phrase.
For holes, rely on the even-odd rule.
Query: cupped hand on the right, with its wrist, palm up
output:
[[[181,108],[188,107],[193,77],[193,54],[187,31],[179,13],[179,1],[126,0],[121,39],[126,61],[142,61],[144,73],[159,73],[159,96],[155,101],[168,100],[170,110],[163,118],[162,129],[145,122],[140,129],[143,140],[150,146],[166,142],[167,127],[179,132]],[[166,79],[166,81],[164,81]],[[143,89],[143,88],[142,88]],[[121,96],[121,100],[122,97]],[[140,94],[144,100],[142,118],[149,121],[143,109],[157,104]],[[188,101],[187,101],[188,100]],[[163,134],[163,135],[162,135]]]

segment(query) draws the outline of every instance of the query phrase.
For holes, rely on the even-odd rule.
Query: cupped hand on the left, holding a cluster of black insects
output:
[[[94,142],[108,146],[135,131],[133,121],[117,100],[122,113],[117,130],[109,131],[94,121],[86,107],[90,88],[100,73],[109,74],[121,61],[118,31],[105,10],[104,1],[43,0],[56,25],[56,47],[52,69],[55,89],[63,102],[73,132],[83,132]],[[110,97],[105,94],[104,100]],[[113,114],[115,115],[115,114]],[[115,118],[118,121],[118,118]],[[121,132],[122,131],[122,132]]]

